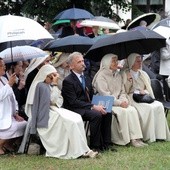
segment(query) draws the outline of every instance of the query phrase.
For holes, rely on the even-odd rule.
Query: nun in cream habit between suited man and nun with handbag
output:
[[[102,58],[92,84],[99,95],[114,97],[112,111],[117,118],[115,115],[112,117],[112,142],[118,145],[131,143],[135,147],[146,146],[141,140],[143,136],[138,113],[126,98],[122,77],[118,71],[117,55],[107,54]]]

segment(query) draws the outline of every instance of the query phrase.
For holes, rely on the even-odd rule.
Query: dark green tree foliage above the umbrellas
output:
[[[37,18],[38,21],[53,21],[53,18],[61,11],[77,7],[86,9],[94,15],[102,15],[120,20],[112,5],[117,4],[118,9],[125,12],[131,8],[127,0],[4,0],[0,1],[0,15],[14,14],[26,15]]]

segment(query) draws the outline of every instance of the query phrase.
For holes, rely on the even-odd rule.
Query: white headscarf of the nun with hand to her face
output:
[[[28,95],[27,95],[27,101],[25,104],[25,113],[29,116],[31,116],[31,105],[33,104],[34,101],[34,94],[35,94],[35,89],[36,86],[39,82],[43,82],[47,75],[51,74],[51,73],[55,73],[56,69],[54,66],[50,65],[50,64],[46,64],[44,66],[42,66],[39,70],[39,72],[37,73],[37,75],[35,76],[31,87],[29,89]]]

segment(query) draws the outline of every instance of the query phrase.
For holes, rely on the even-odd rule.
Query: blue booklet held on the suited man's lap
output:
[[[103,105],[106,108],[106,112],[111,113],[113,102],[114,102],[113,96],[93,95],[91,103],[95,105]]]

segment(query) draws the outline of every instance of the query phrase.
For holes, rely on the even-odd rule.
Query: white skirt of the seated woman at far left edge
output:
[[[11,126],[8,129],[0,130],[0,139],[12,139],[23,136],[27,122],[18,122],[12,118]]]

